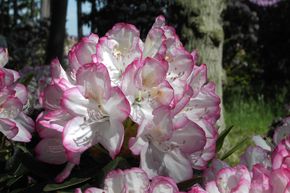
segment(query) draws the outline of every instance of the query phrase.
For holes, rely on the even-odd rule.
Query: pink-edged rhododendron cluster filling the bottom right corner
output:
[[[241,158],[241,165],[229,167],[213,160],[204,172],[206,191],[209,193],[286,193],[290,192],[290,135],[289,117],[277,127],[274,149],[265,146],[260,138],[258,146],[249,147]],[[263,149],[262,147],[266,147]],[[270,150],[269,150],[270,148]]]

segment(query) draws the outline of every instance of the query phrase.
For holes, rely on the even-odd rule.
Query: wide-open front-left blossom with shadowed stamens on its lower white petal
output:
[[[73,152],[82,152],[101,143],[115,157],[123,138],[123,121],[130,106],[118,87],[111,87],[102,64],[86,64],[76,74],[77,87],[66,90],[61,105],[73,118],[63,131],[63,144]]]

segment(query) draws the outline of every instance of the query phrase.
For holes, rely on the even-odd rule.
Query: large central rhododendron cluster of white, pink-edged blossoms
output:
[[[140,155],[150,179],[192,178],[215,155],[220,99],[207,81],[205,65],[196,65],[175,30],[156,18],[145,41],[135,26],[119,23],[99,38],[83,38],[69,52],[64,70],[51,64],[51,81],[37,119],[42,138],[38,159],[62,164],[62,181],[82,152],[101,144],[114,159],[124,141],[123,122],[131,119],[137,135],[129,148]]]

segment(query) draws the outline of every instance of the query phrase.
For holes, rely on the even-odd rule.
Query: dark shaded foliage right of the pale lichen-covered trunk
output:
[[[223,20],[226,92],[273,99],[289,88],[290,1],[268,7],[229,1]]]

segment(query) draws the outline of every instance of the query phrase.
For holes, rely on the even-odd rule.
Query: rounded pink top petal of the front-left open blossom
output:
[[[85,64],[77,72],[77,84],[85,88],[85,97],[94,98],[99,103],[111,95],[111,81],[103,64]]]

